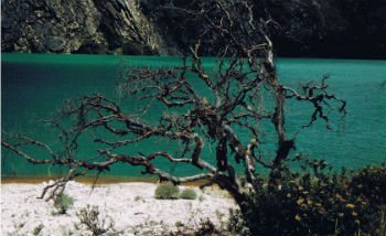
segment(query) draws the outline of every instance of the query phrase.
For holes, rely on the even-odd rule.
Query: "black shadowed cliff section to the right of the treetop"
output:
[[[270,0],[282,56],[386,58],[385,0]]]

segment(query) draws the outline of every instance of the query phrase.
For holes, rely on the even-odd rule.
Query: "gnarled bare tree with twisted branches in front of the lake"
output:
[[[135,95],[138,100],[146,101],[140,110],[124,110],[117,103],[99,94],[83,96],[67,104],[62,121],[51,121],[61,133],[61,152],[23,136],[8,136],[2,146],[33,164],[68,167],[67,175],[47,185],[41,197],[47,193],[47,199],[53,197],[64,190],[67,181],[92,170],[104,172],[116,163],[128,163],[141,165],[143,173],[158,175],[174,184],[207,180],[207,184],[215,183],[227,190],[242,211],[247,210],[249,202],[240,176],[244,175],[251,185],[250,191],[258,191],[255,171],[256,165],[261,165],[269,169],[269,187],[277,187],[286,161],[291,159],[290,150],[296,148],[296,135],[289,138],[286,132],[286,100],[296,99],[314,108],[310,121],[299,130],[310,127],[320,118],[331,128],[326,110],[334,106],[339,112],[345,114],[345,101],[326,90],[326,77],[319,84],[305,84],[300,90],[280,83],[268,34],[268,28],[275,25],[275,21],[255,19],[254,7],[258,6],[248,1],[213,0],[203,1],[201,10],[183,9],[202,28],[190,55],[182,58],[181,65],[165,69],[132,67],[120,86],[125,95]],[[200,57],[203,40],[210,37],[215,39],[216,45],[213,46],[218,49],[215,71],[205,68]],[[203,83],[211,95],[197,89],[195,82]],[[140,116],[152,106],[179,111],[173,115],[159,114],[159,121],[153,124]],[[68,126],[68,120],[74,117],[76,122]],[[255,125],[257,121],[268,122],[275,129],[277,147],[270,160],[259,151],[261,131]],[[96,160],[79,160],[74,152],[78,148],[79,137],[93,129],[108,131],[108,136],[94,138],[105,149],[96,150]],[[247,130],[250,141],[239,138],[239,129]],[[119,151],[121,147],[130,148],[149,138],[174,141],[181,146],[181,151],[176,154],[168,150],[149,153],[146,147],[138,150],[136,155]],[[215,157],[212,157],[215,164],[202,158],[203,147],[208,142],[215,146]],[[21,150],[26,144],[45,149],[51,158],[33,158]],[[157,159],[190,164],[201,173],[175,176],[160,170],[154,163]],[[236,171],[236,165],[244,171]]]

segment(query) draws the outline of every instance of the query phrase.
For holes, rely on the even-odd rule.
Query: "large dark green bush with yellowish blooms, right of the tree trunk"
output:
[[[379,235],[385,167],[332,173],[323,171],[323,161],[308,165],[311,173],[286,172],[278,190],[259,180],[260,190],[249,196],[251,207],[243,215],[253,235]]]

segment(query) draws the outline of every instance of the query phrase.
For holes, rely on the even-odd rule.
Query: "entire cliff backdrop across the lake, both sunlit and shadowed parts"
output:
[[[3,52],[178,55],[202,25],[184,0],[2,0]],[[279,56],[385,58],[385,0],[259,0]],[[196,9],[195,9],[196,10]],[[211,45],[203,55],[213,55]]]

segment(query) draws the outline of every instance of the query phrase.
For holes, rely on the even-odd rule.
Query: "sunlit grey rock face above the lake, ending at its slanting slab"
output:
[[[4,0],[3,52],[171,54],[132,0]]]

